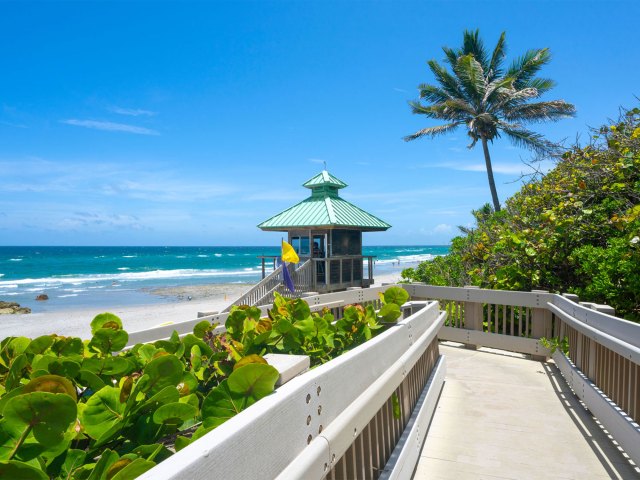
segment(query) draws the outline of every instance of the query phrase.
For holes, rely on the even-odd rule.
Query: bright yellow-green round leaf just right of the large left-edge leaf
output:
[[[124,417],[125,405],[120,403],[120,389],[105,386],[91,395],[80,415],[87,435],[98,439]]]

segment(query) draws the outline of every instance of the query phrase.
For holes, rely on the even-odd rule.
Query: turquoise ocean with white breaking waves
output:
[[[448,246],[371,246],[375,273],[446,255]],[[34,313],[95,305],[166,303],[150,291],[202,284],[253,284],[260,255],[277,247],[0,247],[0,300]],[[49,300],[36,301],[46,294]]]

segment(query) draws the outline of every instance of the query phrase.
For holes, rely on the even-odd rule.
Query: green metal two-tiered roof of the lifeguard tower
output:
[[[383,231],[391,227],[378,217],[340,198],[342,180],[322,171],[303,185],[311,196],[258,225],[262,230],[287,231],[293,228],[341,227],[362,231]]]

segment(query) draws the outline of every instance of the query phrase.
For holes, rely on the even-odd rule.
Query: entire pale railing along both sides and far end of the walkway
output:
[[[398,325],[294,378],[143,478],[410,478],[444,378],[436,335],[539,360],[551,355],[541,337],[566,336],[568,354],[556,350],[555,363],[640,463],[640,325],[543,291],[402,286],[412,301]],[[306,300],[312,310],[331,308],[339,318],[346,304],[379,306],[384,288]],[[224,325],[227,315],[204,318]],[[133,333],[130,342],[166,338],[173,330],[185,334],[201,320]],[[402,405],[399,419],[392,414],[394,395]]]

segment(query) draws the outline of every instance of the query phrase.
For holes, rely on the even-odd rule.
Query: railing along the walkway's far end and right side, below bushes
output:
[[[494,347],[544,359],[541,337],[568,338],[553,359],[574,393],[629,457],[640,464],[640,324],[579,304],[572,295],[475,287],[403,285],[411,298],[436,299],[450,312],[438,334],[472,348]],[[577,298],[574,298],[577,300]]]

